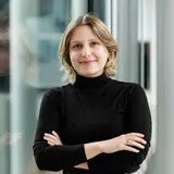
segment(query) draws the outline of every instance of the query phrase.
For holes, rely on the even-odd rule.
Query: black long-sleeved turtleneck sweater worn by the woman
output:
[[[55,130],[63,145],[49,146],[45,133]],[[139,153],[120,151],[86,159],[84,144],[107,140],[126,133],[142,133],[147,145]],[[104,74],[77,76],[74,85],[44,95],[34,141],[40,170],[65,174],[124,174],[139,169],[150,147],[151,116],[140,85],[113,80]],[[87,162],[89,170],[73,166]]]

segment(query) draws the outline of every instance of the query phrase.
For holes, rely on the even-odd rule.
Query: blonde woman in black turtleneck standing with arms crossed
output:
[[[39,170],[64,174],[138,171],[150,147],[144,89],[115,76],[117,44],[94,15],[66,27],[59,57],[70,84],[42,98],[34,142]]]

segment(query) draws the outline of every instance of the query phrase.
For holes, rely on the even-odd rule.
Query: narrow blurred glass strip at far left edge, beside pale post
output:
[[[10,146],[10,40],[9,1],[0,1],[0,173],[9,173]]]

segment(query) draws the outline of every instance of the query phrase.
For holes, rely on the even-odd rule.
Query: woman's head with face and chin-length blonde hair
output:
[[[59,58],[71,83],[76,74],[96,77],[103,72],[114,77],[117,44],[101,20],[95,15],[82,15],[72,21],[59,47]]]

